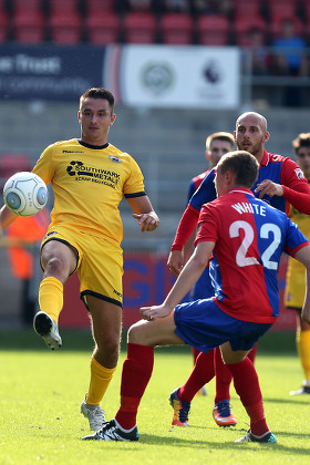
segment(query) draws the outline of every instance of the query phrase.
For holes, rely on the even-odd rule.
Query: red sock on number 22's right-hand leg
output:
[[[237,394],[250,417],[250,428],[252,434],[261,436],[269,431],[264,412],[261,391],[259,388],[258,375],[252,362],[247,356],[240,363],[227,365],[234,376],[234,384]]]

